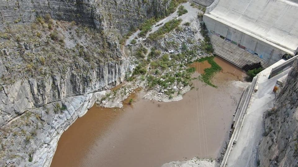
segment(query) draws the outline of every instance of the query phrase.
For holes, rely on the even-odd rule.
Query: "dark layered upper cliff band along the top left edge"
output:
[[[38,15],[125,33],[144,19],[164,15],[170,0],[8,0],[0,4],[0,30],[33,22]]]

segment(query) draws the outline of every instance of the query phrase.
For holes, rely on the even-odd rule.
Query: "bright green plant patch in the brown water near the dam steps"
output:
[[[205,58],[200,58],[198,62],[204,62],[204,61],[208,61],[208,63],[211,65],[210,68],[205,68],[204,69],[204,74],[201,75],[200,79],[205,82],[207,85],[210,85],[214,88],[217,88],[216,85],[214,85],[211,82],[212,77],[218,73],[219,71],[222,70],[222,68],[216,63],[214,62],[214,56],[209,56],[209,57],[205,57]]]

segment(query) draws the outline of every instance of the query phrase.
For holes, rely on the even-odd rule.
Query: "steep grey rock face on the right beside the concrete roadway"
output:
[[[278,94],[276,105],[264,114],[265,132],[259,146],[260,166],[298,166],[298,60]]]

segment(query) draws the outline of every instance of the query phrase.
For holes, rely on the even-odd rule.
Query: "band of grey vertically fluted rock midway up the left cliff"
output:
[[[85,95],[110,89],[123,82],[134,65],[128,59],[106,62],[92,71],[80,71],[69,67],[66,75],[52,75],[46,78],[24,79],[5,85],[0,91],[0,126],[33,108],[60,101],[66,97]]]

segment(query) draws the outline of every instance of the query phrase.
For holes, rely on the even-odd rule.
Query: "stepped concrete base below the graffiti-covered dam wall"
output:
[[[237,45],[220,38],[219,36],[210,35],[210,39],[215,54],[235,64],[243,70],[247,71],[253,69],[256,67],[255,64],[259,62],[261,62],[264,69],[272,65],[246,50],[241,49]]]

